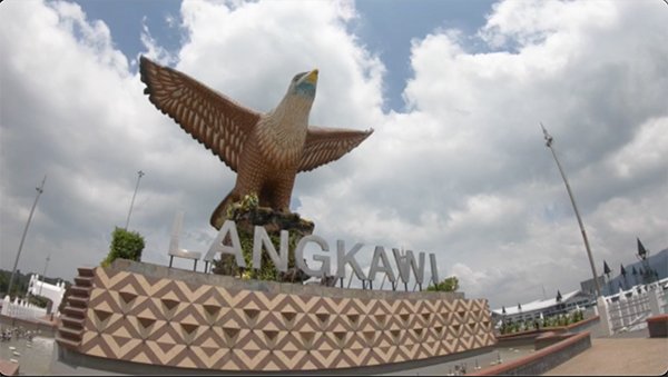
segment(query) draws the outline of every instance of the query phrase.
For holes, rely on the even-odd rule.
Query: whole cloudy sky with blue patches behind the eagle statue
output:
[[[121,1],[122,2],[122,1]],[[0,267],[71,279],[128,215],[144,260],[206,251],[235,175],[143,95],[139,54],[258,111],[320,69],[313,125],[375,132],[299,175],[292,210],[335,245],[435,252],[492,308],[668,247],[668,6],[637,1],[4,1]],[[177,261],[188,268],[187,261]]]

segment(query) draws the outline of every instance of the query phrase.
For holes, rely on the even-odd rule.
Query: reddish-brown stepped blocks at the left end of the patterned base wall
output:
[[[86,310],[88,310],[88,298],[92,289],[94,269],[89,267],[78,268],[79,276],[75,278],[75,285],[70,287],[66,305],[60,315],[60,327],[56,341],[61,347],[77,349],[81,344],[84,325],[86,324]]]

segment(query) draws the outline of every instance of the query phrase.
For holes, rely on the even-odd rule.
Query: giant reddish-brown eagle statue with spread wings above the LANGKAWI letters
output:
[[[140,58],[144,93],[237,173],[232,191],[214,210],[210,224],[220,229],[228,205],[248,194],[259,206],[289,211],[297,172],[313,170],[353,150],[373,129],[308,126],[317,69],[297,73],[275,109],[248,109],[169,67]]]

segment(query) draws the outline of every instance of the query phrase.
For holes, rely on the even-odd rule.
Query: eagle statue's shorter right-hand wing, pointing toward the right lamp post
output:
[[[298,171],[308,171],[337,160],[366,139],[373,129],[357,131],[310,126]]]

